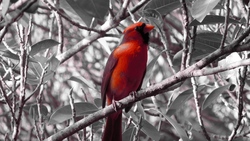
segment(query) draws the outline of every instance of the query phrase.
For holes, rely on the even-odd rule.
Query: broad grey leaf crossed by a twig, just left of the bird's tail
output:
[[[76,117],[91,114],[98,110],[98,108],[94,104],[88,102],[74,103],[74,107],[76,110]],[[71,106],[66,105],[60,107],[51,115],[49,124],[61,123],[70,118],[72,118]]]

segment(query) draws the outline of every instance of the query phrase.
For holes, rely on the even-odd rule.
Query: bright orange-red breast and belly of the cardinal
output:
[[[147,47],[145,46],[137,46],[137,48],[119,52],[118,62],[110,78],[110,90],[115,100],[120,100],[138,89],[146,65]]]

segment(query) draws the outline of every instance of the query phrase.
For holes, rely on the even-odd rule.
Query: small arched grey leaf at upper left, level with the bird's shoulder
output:
[[[59,43],[57,41],[52,40],[52,39],[46,39],[46,40],[40,41],[40,42],[31,46],[31,51],[29,52],[29,54],[31,56],[34,56],[37,53],[39,53],[45,49],[51,48],[51,47],[58,45],[58,44]]]

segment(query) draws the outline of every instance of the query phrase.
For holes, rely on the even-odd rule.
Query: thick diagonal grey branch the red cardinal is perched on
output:
[[[250,30],[248,31],[250,32]],[[220,56],[232,53],[232,52],[241,52],[244,50],[250,51],[250,43],[244,44],[241,46],[235,46],[235,44],[231,44],[229,46],[226,46],[225,48],[222,49],[217,49],[204,59],[198,61],[197,63],[193,64],[192,66],[186,68],[185,70],[179,71],[175,75],[164,79],[163,81],[152,85],[146,89],[140,90],[137,93],[134,93],[133,95],[129,95],[128,97],[122,99],[119,101],[119,104],[117,104],[116,109],[122,109],[125,108],[127,105],[131,105],[132,103],[135,103],[137,101],[140,101],[142,99],[145,99],[150,96],[157,95],[159,93],[168,91],[169,88],[187,78],[195,76],[196,70],[200,70],[213,62],[214,60],[218,59]],[[84,119],[74,123],[73,125],[59,131],[58,133],[50,136],[47,140],[62,140],[69,135],[72,135],[76,133],[77,131],[91,125],[92,123],[106,117],[107,115],[115,112],[113,109],[112,105],[107,106],[104,109],[101,109],[93,114],[90,114],[89,116],[85,117]]]

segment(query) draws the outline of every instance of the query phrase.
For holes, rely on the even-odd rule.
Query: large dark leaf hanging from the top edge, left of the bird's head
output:
[[[65,9],[65,12],[71,17],[81,19],[86,25],[90,25],[92,18],[95,17],[101,21],[108,12],[109,1],[108,0],[61,0],[61,7]],[[83,8],[84,7],[84,8]],[[76,14],[76,15],[74,15]],[[82,23],[81,22],[81,23]]]

